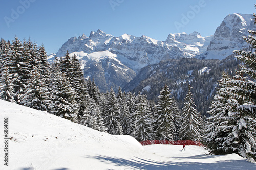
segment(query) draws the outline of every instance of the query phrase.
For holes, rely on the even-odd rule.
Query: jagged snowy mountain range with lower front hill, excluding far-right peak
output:
[[[113,87],[123,87],[130,82],[141,68],[171,58],[194,57],[206,50],[211,36],[199,33],[170,34],[166,41],[158,41],[147,36],[135,37],[123,34],[114,37],[98,30],[90,36],[72,37],[59,51],[49,56],[64,56],[69,51],[82,63],[86,77],[94,78],[102,91]]]

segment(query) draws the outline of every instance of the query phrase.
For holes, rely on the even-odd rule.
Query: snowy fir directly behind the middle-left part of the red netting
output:
[[[174,125],[173,98],[167,85],[165,85],[158,96],[156,113],[156,139],[169,140],[176,139],[176,127]]]

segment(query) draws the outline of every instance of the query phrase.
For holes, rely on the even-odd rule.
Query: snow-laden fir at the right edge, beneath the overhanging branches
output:
[[[234,76],[229,81],[231,84],[230,93],[234,96],[236,110],[229,114],[231,119],[228,122],[228,127],[232,131],[225,138],[222,145],[225,149],[233,150],[233,153],[238,153],[242,157],[247,157],[249,161],[256,161],[256,119],[255,119],[255,101],[253,98],[248,98],[246,93],[254,90],[249,90],[247,87],[247,77]],[[248,91],[247,91],[248,90]],[[246,92],[244,92],[246,91]]]

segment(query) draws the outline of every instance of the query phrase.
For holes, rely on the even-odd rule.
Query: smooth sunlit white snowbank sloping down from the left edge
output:
[[[0,100],[2,134],[4,117],[9,118],[9,169],[95,169],[105,165],[93,157],[122,157],[143,151],[130,136],[113,136]],[[2,162],[0,169],[7,168]]]

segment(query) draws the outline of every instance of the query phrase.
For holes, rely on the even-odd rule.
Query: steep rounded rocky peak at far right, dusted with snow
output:
[[[237,13],[226,16],[216,29],[207,51],[197,58],[221,60],[233,54],[233,50],[248,48],[243,36],[249,34],[247,30],[254,29],[255,25],[251,14]]]

